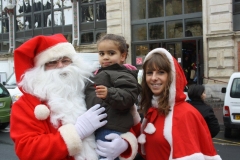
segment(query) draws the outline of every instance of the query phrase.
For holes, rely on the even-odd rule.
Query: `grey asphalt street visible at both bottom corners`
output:
[[[218,154],[223,160],[239,160],[240,157],[240,131],[235,130],[232,138],[224,138],[224,127],[221,126],[219,134],[213,138]],[[18,160],[12,140],[9,137],[9,128],[0,131],[1,160]]]

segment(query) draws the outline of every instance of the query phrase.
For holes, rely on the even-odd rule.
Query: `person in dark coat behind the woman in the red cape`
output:
[[[193,84],[188,89],[188,102],[195,107],[207,122],[212,138],[220,131],[218,119],[216,118],[211,106],[204,103],[206,98],[205,87],[203,85]]]

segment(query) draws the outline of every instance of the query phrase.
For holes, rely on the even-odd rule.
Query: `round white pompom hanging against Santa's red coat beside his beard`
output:
[[[38,120],[46,120],[50,115],[50,110],[47,106],[39,104],[34,109],[34,115]]]

